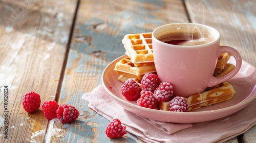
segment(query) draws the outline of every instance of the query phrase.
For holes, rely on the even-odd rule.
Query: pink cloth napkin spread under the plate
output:
[[[223,142],[256,124],[256,100],[239,112],[219,120],[178,124],[149,120],[123,109],[102,85],[85,93],[82,99],[89,101],[88,106],[109,121],[119,118],[126,131],[146,142]]]

